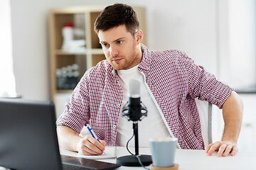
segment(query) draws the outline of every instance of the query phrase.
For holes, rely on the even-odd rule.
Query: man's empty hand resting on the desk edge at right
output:
[[[228,157],[228,154],[234,156],[238,152],[236,142],[232,141],[218,141],[206,146],[206,153],[208,156],[213,152],[218,151],[218,157]]]

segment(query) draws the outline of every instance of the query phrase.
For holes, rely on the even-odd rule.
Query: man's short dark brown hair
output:
[[[109,30],[117,26],[125,25],[129,33],[134,34],[139,29],[137,14],[132,6],[127,4],[114,4],[107,6],[95,21],[95,32]]]

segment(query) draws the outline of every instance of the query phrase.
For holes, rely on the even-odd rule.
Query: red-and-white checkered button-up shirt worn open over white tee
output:
[[[194,64],[184,52],[150,51],[144,45],[142,49],[138,70],[144,74],[168,128],[182,149],[204,149],[194,98],[222,108],[233,89]],[[83,126],[90,123],[100,140],[115,146],[123,96],[116,70],[103,60],[85,72],[56,125],[68,126],[80,133]]]

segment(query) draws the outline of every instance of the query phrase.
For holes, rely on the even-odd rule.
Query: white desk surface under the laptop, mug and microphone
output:
[[[134,152],[134,149],[130,149]],[[61,154],[77,156],[76,152],[70,152],[65,149],[60,149]],[[139,154],[151,154],[149,148],[139,148]],[[129,155],[125,147],[117,147],[117,157]],[[99,159],[103,162],[115,163],[115,159]],[[178,170],[236,170],[236,169],[256,169],[256,154],[255,152],[238,152],[235,157],[217,157],[217,152],[212,156],[207,156],[204,150],[176,150],[175,163],[178,164]],[[141,167],[121,166],[117,170],[122,169],[143,169]]]

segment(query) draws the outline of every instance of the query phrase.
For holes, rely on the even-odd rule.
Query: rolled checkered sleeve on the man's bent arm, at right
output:
[[[233,89],[218,81],[203,67],[196,65],[185,53],[182,53],[182,56],[188,73],[188,94],[222,108]]]

